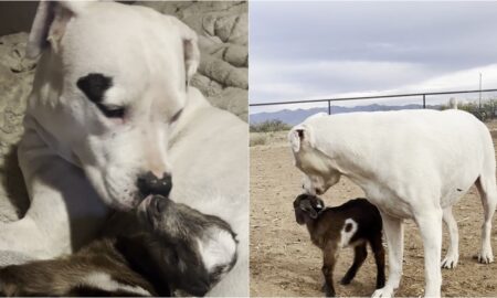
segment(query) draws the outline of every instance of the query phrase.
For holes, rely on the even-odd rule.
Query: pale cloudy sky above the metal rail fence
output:
[[[250,100],[478,89],[479,74],[497,88],[496,12],[497,2],[252,1]]]

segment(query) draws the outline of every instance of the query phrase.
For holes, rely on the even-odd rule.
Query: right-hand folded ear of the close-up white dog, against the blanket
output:
[[[176,17],[166,15],[168,21],[178,30],[183,41],[184,71],[187,85],[191,77],[197,73],[200,63],[200,51],[197,33]]]

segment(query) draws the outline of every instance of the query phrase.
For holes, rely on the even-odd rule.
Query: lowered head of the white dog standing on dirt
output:
[[[341,173],[330,157],[319,150],[311,125],[295,126],[288,134],[295,167],[304,172],[303,189],[311,194],[324,194],[338,183]]]

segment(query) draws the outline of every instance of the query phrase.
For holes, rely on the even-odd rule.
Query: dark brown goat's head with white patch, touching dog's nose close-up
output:
[[[203,296],[236,263],[236,235],[218,216],[149,195],[138,217],[154,235],[152,254],[173,290]]]

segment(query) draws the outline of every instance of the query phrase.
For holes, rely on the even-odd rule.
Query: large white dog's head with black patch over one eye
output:
[[[103,200],[130,209],[168,195],[168,138],[199,63],[195,33],[144,7],[42,1],[28,44],[28,55],[41,53],[43,126]]]

